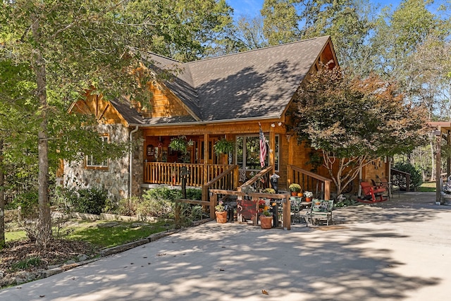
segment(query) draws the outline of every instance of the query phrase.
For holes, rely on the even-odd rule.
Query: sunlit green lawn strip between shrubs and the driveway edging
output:
[[[114,223],[114,226],[105,227],[102,224]],[[132,227],[132,225],[134,227]],[[91,242],[101,248],[116,247],[127,242],[140,240],[147,236],[173,228],[173,221],[158,221],[155,223],[130,221],[85,221],[72,219],[59,229],[54,228],[53,233],[60,238],[69,240],[83,240]],[[20,229],[7,230],[6,242],[25,240],[27,235]]]

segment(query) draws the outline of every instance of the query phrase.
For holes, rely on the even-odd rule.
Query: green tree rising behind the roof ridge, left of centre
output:
[[[132,12],[149,18],[154,28],[148,49],[179,61],[232,52],[232,8],[225,0],[132,1]]]

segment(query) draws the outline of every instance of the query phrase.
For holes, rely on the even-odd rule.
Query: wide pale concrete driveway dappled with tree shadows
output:
[[[0,300],[449,300],[451,207],[434,200],[408,192],[291,231],[210,222]]]

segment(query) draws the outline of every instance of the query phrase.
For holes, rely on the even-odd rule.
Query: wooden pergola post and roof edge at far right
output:
[[[436,143],[436,152],[435,152],[435,204],[441,204],[441,190],[442,186],[440,185],[440,163],[441,163],[441,154],[440,154],[440,146],[442,138],[446,140],[447,145],[451,145],[451,122],[450,121],[434,121],[428,123],[431,128],[434,129],[435,143]],[[451,158],[447,158],[446,162],[446,173],[447,176],[451,176]]]

